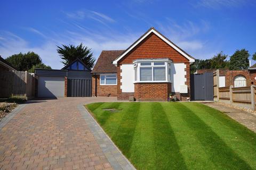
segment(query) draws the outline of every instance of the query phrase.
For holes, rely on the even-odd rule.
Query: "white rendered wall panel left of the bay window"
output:
[[[122,92],[134,92],[134,69],[133,64],[122,64],[121,67]]]

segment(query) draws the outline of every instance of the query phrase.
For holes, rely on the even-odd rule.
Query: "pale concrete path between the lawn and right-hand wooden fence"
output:
[[[237,122],[243,124],[246,126],[248,129],[256,132],[256,115],[253,115],[251,113],[241,111],[239,109],[233,108],[233,107],[228,107],[224,106],[218,103],[203,103],[207,106],[213,107],[224,114],[228,115],[229,117],[233,118]]]

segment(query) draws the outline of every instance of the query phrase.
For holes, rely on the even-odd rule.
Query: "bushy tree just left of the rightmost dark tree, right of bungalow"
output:
[[[228,55],[223,54],[223,52],[214,55],[211,58],[211,69],[224,69],[228,66],[228,61],[226,61]]]

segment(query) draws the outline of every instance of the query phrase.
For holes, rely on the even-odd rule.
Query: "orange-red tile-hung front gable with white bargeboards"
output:
[[[137,58],[170,58],[173,62],[195,62],[195,58],[184,52],[154,28],[150,28],[125,52],[113,61],[113,64],[132,63]]]

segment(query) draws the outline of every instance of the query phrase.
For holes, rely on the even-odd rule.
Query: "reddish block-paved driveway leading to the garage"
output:
[[[114,100],[30,101],[0,130],[0,169],[112,169],[77,105]]]

